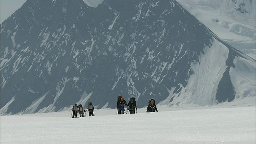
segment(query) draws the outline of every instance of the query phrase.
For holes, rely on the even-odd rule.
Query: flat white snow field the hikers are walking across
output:
[[[158,105],[157,105],[158,106]],[[158,106],[158,112],[70,118],[71,110],[0,116],[1,144],[255,144],[255,96],[217,106]]]

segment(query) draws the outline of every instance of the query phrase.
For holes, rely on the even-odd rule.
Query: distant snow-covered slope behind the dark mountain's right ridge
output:
[[[222,40],[255,60],[255,0],[177,0]]]

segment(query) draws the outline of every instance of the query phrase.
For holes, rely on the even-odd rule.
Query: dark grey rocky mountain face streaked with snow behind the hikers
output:
[[[120,94],[127,101],[135,97],[139,108],[150,98],[182,103],[195,73],[191,65],[202,63],[214,39],[228,58],[218,81],[206,82],[218,87],[208,97],[212,104],[241,93],[229,74],[234,59],[254,68],[255,60],[222,42],[176,1],[104,0],[92,8],[82,0],[28,0],[1,24],[1,114],[68,110],[88,101],[115,108]]]

